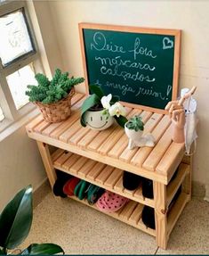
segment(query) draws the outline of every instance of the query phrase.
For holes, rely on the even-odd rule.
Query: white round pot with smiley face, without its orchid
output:
[[[113,124],[114,118],[109,113],[104,114],[103,109],[100,111],[86,111],[84,113],[84,122],[89,128],[103,130]]]

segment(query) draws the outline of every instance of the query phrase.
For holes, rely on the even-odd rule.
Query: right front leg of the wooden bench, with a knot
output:
[[[153,182],[156,219],[157,245],[166,249],[167,246],[167,220],[166,220],[166,186],[162,183]]]

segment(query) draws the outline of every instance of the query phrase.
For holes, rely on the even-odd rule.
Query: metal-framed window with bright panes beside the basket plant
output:
[[[42,65],[25,1],[0,1],[0,35],[1,130],[2,120],[12,123],[35,108],[25,91]]]

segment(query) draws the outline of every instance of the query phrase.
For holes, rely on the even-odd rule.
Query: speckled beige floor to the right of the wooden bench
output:
[[[181,214],[167,250],[157,254],[209,254],[209,203],[193,199]]]

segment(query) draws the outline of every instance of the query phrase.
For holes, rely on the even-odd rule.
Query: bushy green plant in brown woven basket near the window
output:
[[[62,73],[56,69],[52,80],[44,74],[35,76],[37,86],[28,86],[26,95],[29,101],[35,103],[43,113],[44,120],[60,122],[70,115],[71,98],[75,94],[74,86],[84,82],[84,78],[68,77],[68,72]]]

